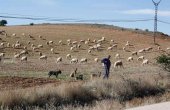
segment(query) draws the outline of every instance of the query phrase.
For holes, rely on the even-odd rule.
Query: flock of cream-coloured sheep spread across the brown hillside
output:
[[[20,52],[14,52],[14,56],[13,58],[15,59],[20,59],[21,62],[27,62],[28,60],[28,55],[30,52],[32,53],[37,53],[39,54],[39,59],[40,60],[48,60],[48,55],[44,54],[41,49],[43,49],[44,47],[49,47],[49,52],[50,54],[55,54],[55,45],[61,45],[61,46],[67,46],[69,48],[69,50],[66,50],[67,52],[69,52],[69,54],[66,54],[65,57],[58,57],[56,58],[56,63],[60,63],[63,61],[63,58],[67,59],[70,63],[87,63],[88,62],[88,58],[84,57],[82,59],[78,59],[76,57],[73,57],[71,55],[71,53],[74,53],[76,50],[81,49],[81,47],[83,45],[86,45],[86,50],[87,50],[87,54],[92,54],[94,51],[98,52],[101,51],[103,48],[105,48],[105,51],[112,51],[112,50],[116,50],[118,48],[118,46],[120,47],[119,43],[116,43],[113,39],[112,40],[108,40],[106,37],[102,37],[101,39],[82,39],[82,40],[72,40],[72,39],[67,39],[66,41],[63,40],[59,40],[59,41],[52,41],[52,40],[46,40],[45,37],[39,35],[38,38],[40,40],[44,40],[46,43],[45,44],[38,44],[35,45],[34,43],[32,43],[32,39],[35,39],[35,36],[33,35],[26,35],[25,33],[22,33],[21,35],[17,35],[16,33],[13,33],[12,35],[8,35],[7,33],[2,35],[3,37],[16,37],[16,36],[22,36],[22,37],[29,37],[30,40],[27,41],[27,44],[24,44],[22,41],[20,41],[20,39],[17,39],[17,41],[13,44],[9,43],[9,42],[1,42],[3,37],[0,38],[0,49],[5,49],[5,48],[13,48],[13,49],[19,49]],[[104,44],[108,44],[109,42],[109,47],[105,47]],[[124,52],[129,52],[128,48],[129,47],[135,47],[134,44],[130,43],[129,41],[127,41],[124,46],[122,47],[122,51]],[[158,51],[161,50],[161,47],[158,46]],[[143,54],[141,53],[146,53],[149,51],[152,51],[153,48],[152,47],[147,47],[147,48],[143,48],[140,49],[138,51],[131,51],[131,56],[129,56],[127,58],[127,62],[132,62],[134,60],[134,57],[137,56],[137,61],[142,61],[142,65],[148,64],[149,63],[149,59],[146,59],[145,56],[143,56]],[[167,48],[167,50],[170,50],[170,48]],[[6,53],[5,52],[1,52],[0,53],[0,61],[5,57]],[[115,55],[115,59],[117,59],[117,61],[114,62],[114,68],[116,67],[123,67],[123,61],[120,59],[120,54],[117,53]],[[93,60],[94,62],[99,62],[99,58],[94,58]]]

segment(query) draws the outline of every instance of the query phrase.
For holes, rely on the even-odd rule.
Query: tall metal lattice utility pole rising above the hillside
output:
[[[155,2],[154,0],[152,0],[153,4],[155,5],[155,18],[154,18],[154,44],[156,44],[156,41],[155,41],[155,37],[156,37],[156,33],[157,33],[157,21],[158,21],[158,5],[159,3],[161,2],[161,0],[159,2]]]

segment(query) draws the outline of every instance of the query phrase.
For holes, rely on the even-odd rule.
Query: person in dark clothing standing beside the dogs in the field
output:
[[[103,76],[103,79],[105,78],[109,78],[109,73],[110,73],[110,66],[111,66],[111,62],[110,62],[110,55],[107,57],[107,58],[103,58],[101,60],[101,63],[103,64],[104,66],[104,76]]]

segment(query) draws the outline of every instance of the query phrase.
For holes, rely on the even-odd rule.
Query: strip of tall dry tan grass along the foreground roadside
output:
[[[87,82],[63,83],[59,86],[51,84],[1,91],[0,106],[1,109],[83,108],[95,110],[103,108],[102,110],[109,110],[115,107],[121,109],[126,105],[132,106],[127,102],[138,98],[162,96],[169,89],[167,84],[162,78],[153,75],[142,77],[117,75],[109,80],[96,79]],[[169,99],[162,99],[162,101],[165,100]]]

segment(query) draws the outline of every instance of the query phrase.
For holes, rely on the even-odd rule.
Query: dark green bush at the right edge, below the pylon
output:
[[[170,72],[170,56],[168,55],[161,55],[156,58],[157,63],[161,64],[161,66]]]

